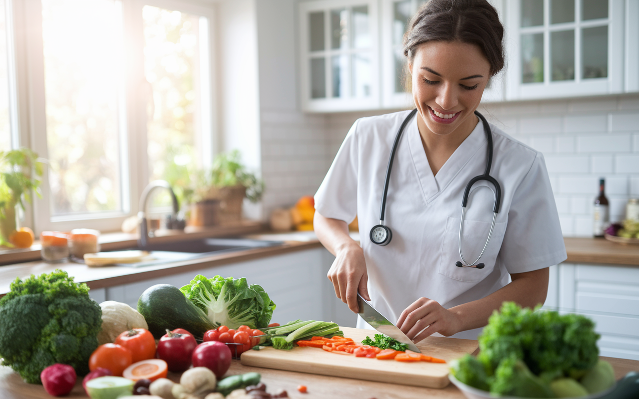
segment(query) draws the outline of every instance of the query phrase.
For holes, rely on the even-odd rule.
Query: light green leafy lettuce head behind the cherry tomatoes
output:
[[[249,285],[243,277],[197,275],[180,290],[216,327],[263,328],[268,326],[275,310],[275,303],[265,290],[256,284]]]

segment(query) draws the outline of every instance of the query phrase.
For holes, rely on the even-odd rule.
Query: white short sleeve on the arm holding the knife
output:
[[[351,223],[357,216],[357,125],[339,147],[324,181],[315,193],[315,209],[325,218]]]

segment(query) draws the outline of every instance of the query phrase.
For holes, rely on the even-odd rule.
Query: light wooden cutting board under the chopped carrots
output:
[[[344,336],[353,338],[357,342],[361,342],[366,336],[373,338],[376,333],[368,329],[350,327],[341,327],[341,329],[344,331]],[[418,343],[417,347],[423,354],[448,362],[461,358],[466,353],[474,352],[477,349],[477,341],[430,336]],[[240,360],[247,366],[426,388],[445,388],[449,384],[447,363],[425,361],[402,363],[395,360],[355,358],[353,355],[332,354],[311,347],[294,347],[291,350],[265,347],[261,350],[248,350],[242,354]]]

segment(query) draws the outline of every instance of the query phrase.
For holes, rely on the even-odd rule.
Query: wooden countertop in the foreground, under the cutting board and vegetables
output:
[[[454,338],[450,338],[454,339]],[[624,377],[628,372],[639,371],[639,361],[604,358],[615,369],[615,379]],[[371,382],[347,378],[326,377],[324,375],[305,374],[296,372],[284,372],[270,368],[258,368],[243,366],[239,360],[233,360],[227,375],[258,372],[262,375],[262,381],[266,384],[268,393],[277,393],[281,389],[288,392],[290,398],[348,398],[348,399],[463,399],[464,396],[453,384],[443,389],[418,388],[404,386],[401,381],[398,384],[385,384],[383,382]],[[169,373],[169,378],[178,382],[180,375]],[[308,393],[299,393],[297,387],[305,385]],[[0,392],[3,399],[50,399],[50,396],[41,385],[27,384],[18,373],[7,366],[0,366]],[[88,398],[82,389],[82,379],[79,378],[75,388],[65,398]]]

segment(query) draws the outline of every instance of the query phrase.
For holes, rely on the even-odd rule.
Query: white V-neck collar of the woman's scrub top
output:
[[[422,137],[417,127],[417,114],[413,117],[413,121],[406,126],[406,135],[408,136],[408,146],[415,165],[415,172],[419,178],[419,183],[424,194],[424,200],[429,204],[435,199],[440,192],[452,182],[452,180],[461,172],[468,161],[486,145],[486,135],[484,134],[484,126],[481,121],[470,132],[470,135],[459,144],[450,158],[442,165],[442,168],[433,175],[431,165],[428,163],[426,151],[422,144]]]

